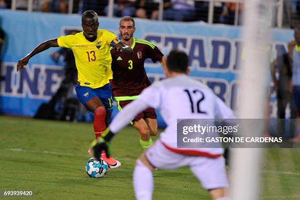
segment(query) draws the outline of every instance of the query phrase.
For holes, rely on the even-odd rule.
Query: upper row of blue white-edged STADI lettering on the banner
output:
[[[145,40],[155,44],[164,54],[170,50],[185,50],[190,56],[191,70],[209,70],[217,72],[236,71],[237,63],[242,59],[243,47],[240,39],[225,37],[195,37],[190,35],[170,35],[147,33]],[[272,44],[273,57],[287,51],[287,44],[275,41]],[[209,53],[208,53],[209,52]],[[147,62],[147,65],[158,67],[159,64]],[[221,70],[221,71],[220,71]]]

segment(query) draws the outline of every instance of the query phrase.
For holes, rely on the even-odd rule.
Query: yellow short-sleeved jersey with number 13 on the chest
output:
[[[116,39],[117,36],[112,32],[99,29],[94,42],[88,41],[83,32],[61,36],[57,42],[59,47],[72,49],[80,85],[99,88],[112,79],[109,45]]]

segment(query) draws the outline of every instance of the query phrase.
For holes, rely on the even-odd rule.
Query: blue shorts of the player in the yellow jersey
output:
[[[90,88],[86,86],[76,85],[75,90],[77,93],[78,100],[86,106],[86,102],[94,97],[98,97],[103,105],[105,106],[107,113],[112,113],[113,111],[113,100],[112,100],[112,92],[110,84],[107,83],[106,85],[100,88]]]

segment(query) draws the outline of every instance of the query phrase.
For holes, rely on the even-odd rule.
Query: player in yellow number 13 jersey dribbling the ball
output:
[[[112,113],[113,101],[109,84],[109,79],[112,79],[110,47],[126,54],[131,54],[133,50],[118,40],[115,34],[98,29],[98,15],[95,11],[85,11],[82,14],[81,22],[83,32],[43,42],[19,60],[17,71],[23,69],[32,56],[50,47],[72,49],[78,71],[75,87],[77,97],[95,114],[94,131],[98,138],[108,126],[108,119]],[[89,152],[93,156],[91,149]],[[111,169],[121,166],[119,161],[107,158],[105,153],[101,157]]]

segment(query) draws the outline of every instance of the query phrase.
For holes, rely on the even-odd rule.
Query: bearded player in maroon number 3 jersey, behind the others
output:
[[[118,108],[122,110],[129,102],[137,99],[143,89],[150,85],[144,68],[145,60],[150,58],[153,63],[159,61],[165,69],[166,59],[155,45],[146,40],[133,37],[135,24],[131,17],[125,16],[120,20],[119,30],[122,41],[133,49],[131,55],[110,51],[112,57],[111,69],[113,71],[111,88]],[[140,133],[141,146],[144,149],[149,148],[152,145],[150,135],[157,134],[157,120],[154,109],[149,108],[139,113],[131,124]]]

